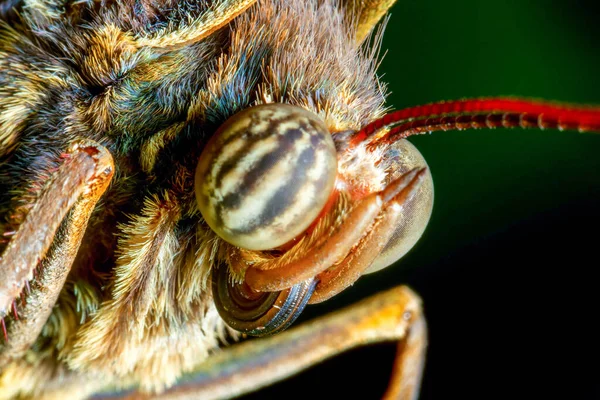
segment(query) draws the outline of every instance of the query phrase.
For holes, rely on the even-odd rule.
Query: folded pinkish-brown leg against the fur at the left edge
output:
[[[7,341],[0,344],[0,365],[21,356],[42,330],[91,212],[113,175],[112,156],[93,142],[76,143],[63,157],[0,259],[0,318],[9,308],[15,309],[7,326]],[[36,268],[39,273],[29,286]],[[17,312],[15,299],[24,287],[30,293]]]

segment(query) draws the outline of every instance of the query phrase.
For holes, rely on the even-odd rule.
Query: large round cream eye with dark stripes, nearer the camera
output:
[[[260,105],[229,118],[208,142],[196,169],[196,199],[221,238],[268,250],[310,226],[336,175],[335,146],[317,115]]]

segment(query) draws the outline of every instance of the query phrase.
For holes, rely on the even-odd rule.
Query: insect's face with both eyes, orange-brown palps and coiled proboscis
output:
[[[298,297],[294,310],[323,301],[393,264],[423,234],[433,184],[419,151],[406,140],[349,146],[352,134],[332,134],[315,113],[274,103],[235,114],[204,148],[196,199],[207,224],[232,245],[229,268],[214,279],[230,326],[263,334],[256,327],[277,318],[248,310],[265,311],[262,302],[277,302],[279,293]]]

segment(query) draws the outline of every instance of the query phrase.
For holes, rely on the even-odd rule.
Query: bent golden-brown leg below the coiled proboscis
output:
[[[378,294],[277,336],[236,345],[209,358],[193,380],[163,394],[135,393],[123,399],[229,398],[284,379],[350,348],[389,340],[401,343],[386,398],[416,399],[426,325],[420,300],[407,287]]]

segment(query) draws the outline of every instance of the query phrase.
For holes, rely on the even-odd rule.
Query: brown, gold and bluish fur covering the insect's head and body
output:
[[[0,367],[0,398],[160,391],[235,336],[207,290],[228,245],[194,203],[206,138],[269,102],[358,129],[385,111],[378,49],[357,46],[358,11],[334,0],[260,1],[220,30],[211,21],[249,3],[22,3],[0,9],[3,214],[33,201],[28,184],[74,138],[106,146],[117,171],[38,341]]]

